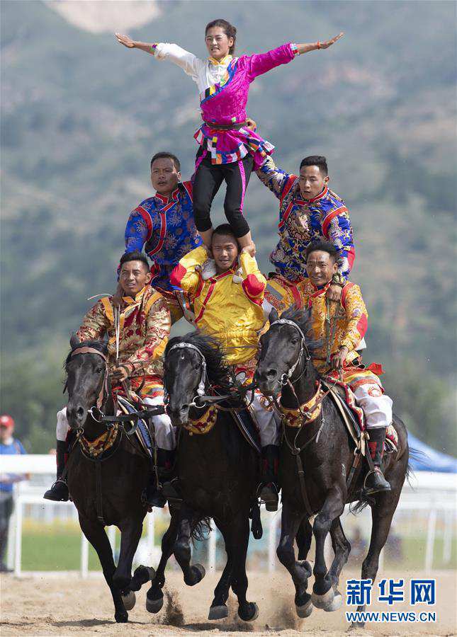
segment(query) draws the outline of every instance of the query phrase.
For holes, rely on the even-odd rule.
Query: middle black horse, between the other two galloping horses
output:
[[[162,607],[164,570],[171,553],[186,584],[201,581],[205,571],[201,565],[191,566],[190,539],[196,522],[212,517],[225,541],[227,563],[215,587],[208,619],[227,616],[225,602],[231,586],[238,598],[239,617],[252,621],[258,609],[246,599],[246,555],[259,458],[228,411],[205,403],[199,406],[199,396],[210,394],[215,386],[222,394],[230,391],[218,343],[199,333],[172,338],[165,350],[164,386],[171,422],[181,427],[177,466],[183,503],[179,511],[171,509],[170,526],[162,539],[162,558],[147,592],[147,609],[158,612]]]

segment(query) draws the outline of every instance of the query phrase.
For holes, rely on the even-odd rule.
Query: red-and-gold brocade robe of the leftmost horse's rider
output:
[[[84,316],[77,331],[80,340],[101,339],[108,335],[108,367],[116,365],[115,325],[112,297],[103,297]],[[168,342],[170,312],[162,294],[146,285],[135,299],[123,298],[120,311],[118,365],[129,365],[130,384],[135,390],[142,384],[141,395],[162,387],[162,355]]]

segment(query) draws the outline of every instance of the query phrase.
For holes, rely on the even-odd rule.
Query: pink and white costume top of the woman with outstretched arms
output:
[[[258,75],[290,62],[298,54],[296,45],[289,42],[267,53],[241,57],[227,55],[220,62],[211,57],[199,59],[178,45],[167,42],[154,45],[154,48],[158,60],[174,62],[198,86],[204,123],[194,137],[210,154],[211,163],[232,163],[250,153],[254,157],[254,170],[257,170],[274,147],[246,127],[237,128],[246,121],[249,86]],[[234,128],[218,129],[218,126],[230,125]]]

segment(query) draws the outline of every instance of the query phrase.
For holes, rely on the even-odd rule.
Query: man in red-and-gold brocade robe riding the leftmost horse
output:
[[[116,358],[115,319],[111,297],[103,297],[87,312],[77,331],[81,341],[101,340],[108,337],[108,370],[113,391],[123,381],[130,381],[132,391],[149,406],[162,405],[162,355],[170,333],[170,312],[162,294],[149,285],[149,263],[140,252],[126,253],[120,260],[120,286],[124,297],[120,305],[118,358]],[[171,466],[176,440],[174,427],[167,414],[152,419],[158,446],[157,462],[160,468]],[[47,490],[47,500],[68,500],[66,481],[61,479],[67,452],[67,408],[57,413],[57,481]],[[149,494],[149,503],[164,506],[160,493]]]

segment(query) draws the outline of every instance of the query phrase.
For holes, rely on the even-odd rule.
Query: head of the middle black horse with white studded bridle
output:
[[[208,377],[225,384],[227,367],[218,341],[198,332],[171,338],[164,356],[164,389],[175,427],[188,422],[189,410],[198,407],[198,397],[209,391]]]

